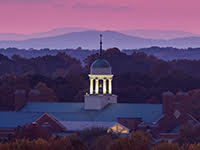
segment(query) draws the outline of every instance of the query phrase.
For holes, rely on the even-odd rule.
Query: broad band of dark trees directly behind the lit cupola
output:
[[[200,60],[163,61],[142,52],[127,55],[118,48],[103,51],[103,57],[112,66],[113,93],[119,96],[119,102],[162,103],[165,91],[200,89]],[[58,101],[83,101],[89,92],[89,67],[96,59],[98,53],[88,56],[83,66],[62,52],[30,59],[0,55],[0,93],[37,89],[42,83],[52,89]]]

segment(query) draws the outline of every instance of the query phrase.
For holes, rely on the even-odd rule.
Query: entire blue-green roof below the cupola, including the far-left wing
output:
[[[102,110],[85,110],[84,103],[29,102],[18,112],[0,112],[0,128],[15,128],[49,113],[59,121],[117,122],[117,118],[142,118],[152,123],[162,116],[162,104],[110,104]]]

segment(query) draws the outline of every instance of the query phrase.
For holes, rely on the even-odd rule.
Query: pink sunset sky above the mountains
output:
[[[0,0],[0,33],[62,27],[200,34],[200,0]]]

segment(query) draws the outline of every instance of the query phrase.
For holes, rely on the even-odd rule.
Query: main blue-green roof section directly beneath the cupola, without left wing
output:
[[[143,118],[156,121],[161,104],[110,104],[102,110],[85,110],[84,103],[28,103],[20,112],[47,112],[63,121],[117,121],[117,118]]]

